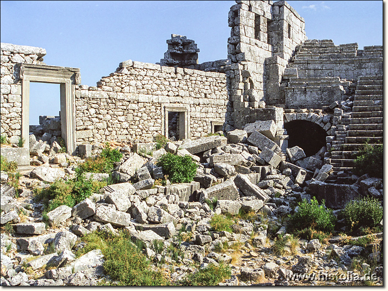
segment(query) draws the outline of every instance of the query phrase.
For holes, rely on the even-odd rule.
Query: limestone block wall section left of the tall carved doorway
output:
[[[18,64],[41,64],[46,49],[7,43],[1,43],[0,48],[0,134],[6,135],[12,143],[17,143],[21,136],[22,116]]]

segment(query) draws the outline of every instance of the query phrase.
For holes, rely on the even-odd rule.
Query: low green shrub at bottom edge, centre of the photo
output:
[[[183,286],[215,286],[221,281],[230,278],[231,271],[228,266],[209,264],[198,272],[190,273],[179,282]]]

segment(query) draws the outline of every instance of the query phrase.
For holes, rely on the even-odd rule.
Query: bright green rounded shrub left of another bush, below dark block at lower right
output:
[[[311,199],[310,203],[306,199],[303,199],[298,206],[298,212],[290,215],[289,226],[291,229],[301,230],[312,227],[313,229],[322,231],[334,230],[337,218],[334,216],[332,210],[324,207],[324,200],[322,201],[322,205],[319,205],[315,197]]]

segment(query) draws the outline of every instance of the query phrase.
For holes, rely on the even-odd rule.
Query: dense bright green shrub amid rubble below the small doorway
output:
[[[163,168],[172,183],[190,183],[196,175],[197,164],[189,155],[181,157],[166,153],[159,158],[157,165]]]

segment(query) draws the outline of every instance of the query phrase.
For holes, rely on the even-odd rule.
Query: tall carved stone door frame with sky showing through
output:
[[[75,127],[75,85],[81,83],[79,68],[52,65],[20,64],[20,80],[22,87],[21,103],[21,138],[29,147],[30,135],[30,82],[60,84],[61,95],[61,131],[66,150],[74,154],[76,150]]]

